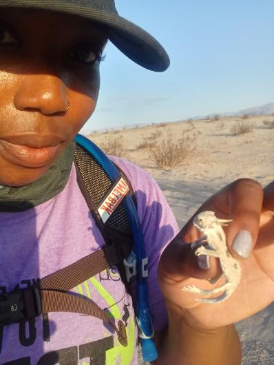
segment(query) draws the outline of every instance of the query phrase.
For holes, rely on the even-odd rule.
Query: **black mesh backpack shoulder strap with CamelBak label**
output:
[[[109,265],[118,267],[129,291],[123,261],[134,247],[134,238],[123,200],[128,195],[133,197],[134,192],[125,173],[116,165],[116,179],[109,176],[101,161],[92,154],[98,147],[94,147],[92,141],[87,143],[90,143],[89,150],[77,143],[74,154],[78,185],[105,240]],[[109,160],[109,163],[112,162]]]

